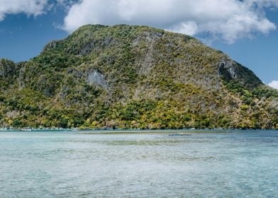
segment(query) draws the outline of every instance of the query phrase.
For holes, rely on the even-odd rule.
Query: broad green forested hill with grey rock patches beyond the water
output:
[[[194,37],[84,25],[0,60],[0,126],[278,129],[278,91]]]

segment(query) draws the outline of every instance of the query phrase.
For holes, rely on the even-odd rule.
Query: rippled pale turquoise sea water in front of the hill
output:
[[[0,197],[278,197],[278,132],[0,132]]]

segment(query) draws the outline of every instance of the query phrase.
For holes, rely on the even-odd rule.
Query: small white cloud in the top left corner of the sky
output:
[[[0,0],[0,21],[7,14],[26,13],[28,16],[38,16],[43,13],[48,0]]]

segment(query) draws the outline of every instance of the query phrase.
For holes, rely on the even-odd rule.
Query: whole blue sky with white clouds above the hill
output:
[[[278,89],[278,0],[0,0],[0,58],[26,61],[82,25],[123,23],[197,37]]]

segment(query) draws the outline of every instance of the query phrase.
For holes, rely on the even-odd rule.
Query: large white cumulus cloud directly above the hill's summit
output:
[[[278,0],[81,0],[71,6],[63,28],[72,33],[88,23],[151,25],[232,43],[275,30],[265,8],[277,7]]]

